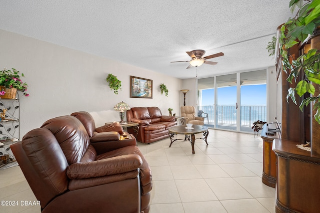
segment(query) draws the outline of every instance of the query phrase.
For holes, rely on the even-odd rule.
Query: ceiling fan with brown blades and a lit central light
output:
[[[195,66],[195,67],[201,66],[203,63],[215,65],[215,64],[217,64],[217,62],[207,61],[207,59],[224,55],[223,52],[219,52],[219,53],[215,53],[213,55],[207,55],[207,56],[203,57],[204,53],[205,53],[205,51],[202,49],[195,49],[190,52],[186,52],[186,54],[188,54],[192,58],[191,60],[189,60],[189,61],[171,61],[171,63],[189,62],[190,65],[188,67],[186,67],[187,69],[190,68],[191,66]]]

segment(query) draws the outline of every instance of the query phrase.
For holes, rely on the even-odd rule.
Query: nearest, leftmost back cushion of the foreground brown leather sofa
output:
[[[68,163],[56,138],[46,128],[31,130],[19,143],[24,153],[17,148],[12,150],[43,208],[51,199],[67,190]]]

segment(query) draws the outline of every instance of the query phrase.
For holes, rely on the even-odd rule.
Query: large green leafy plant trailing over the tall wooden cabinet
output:
[[[279,51],[282,56],[282,69],[288,73],[287,81],[297,81],[295,87],[289,88],[287,94],[293,103],[297,104],[295,94],[302,97],[310,93],[311,97],[303,98],[299,108],[313,103],[316,111],[314,119],[320,124],[320,95],[316,89],[320,84],[320,51],[317,48],[310,49],[300,55],[296,60],[288,54],[288,49],[294,45],[303,46],[320,34],[320,0],[290,0],[291,11],[298,8],[296,15],[281,25],[279,37]],[[311,45],[312,46],[312,45]],[[300,80],[297,80],[299,76]]]

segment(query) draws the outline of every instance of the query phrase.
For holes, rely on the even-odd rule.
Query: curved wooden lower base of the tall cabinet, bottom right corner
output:
[[[318,213],[320,158],[296,147],[297,141],[275,139],[276,213]]]

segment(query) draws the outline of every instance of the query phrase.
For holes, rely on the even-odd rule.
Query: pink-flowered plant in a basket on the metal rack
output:
[[[24,77],[24,74],[21,73],[21,76]],[[27,84],[20,79],[20,72],[14,68],[9,70],[4,67],[0,70],[0,98],[14,99],[17,90],[22,91],[24,96],[29,96],[25,92]]]

